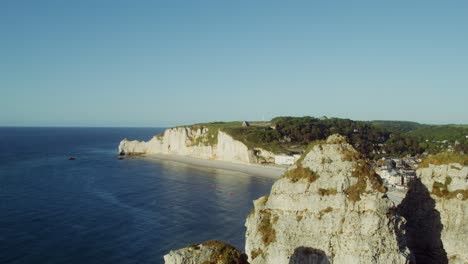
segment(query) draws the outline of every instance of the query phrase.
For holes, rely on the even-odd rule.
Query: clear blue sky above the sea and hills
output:
[[[0,125],[468,123],[468,1],[0,2]]]

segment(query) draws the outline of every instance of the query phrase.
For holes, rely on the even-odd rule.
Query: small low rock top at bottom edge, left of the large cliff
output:
[[[164,256],[166,264],[247,264],[247,256],[233,246],[220,241],[207,241],[202,244],[171,251]]]

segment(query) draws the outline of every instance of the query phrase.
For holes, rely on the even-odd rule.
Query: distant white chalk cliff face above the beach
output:
[[[249,150],[242,142],[222,131],[206,127],[170,128],[148,142],[124,139],[120,142],[119,153],[175,154],[242,163],[256,163],[258,160],[254,150]]]

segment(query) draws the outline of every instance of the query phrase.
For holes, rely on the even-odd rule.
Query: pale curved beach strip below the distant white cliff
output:
[[[242,172],[254,176],[262,176],[268,178],[278,179],[286,171],[287,167],[277,165],[260,165],[260,164],[245,164],[245,163],[233,163],[228,161],[220,160],[207,160],[197,159],[193,157],[171,155],[171,154],[147,154],[145,158],[158,159],[158,160],[169,160],[175,162],[181,162],[189,165],[215,168],[229,171]]]

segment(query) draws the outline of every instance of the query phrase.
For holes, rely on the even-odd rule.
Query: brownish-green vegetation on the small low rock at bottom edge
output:
[[[235,247],[217,240],[206,241],[203,246],[215,248],[214,257],[210,261],[202,264],[247,264],[247,256],[237,250]]]

